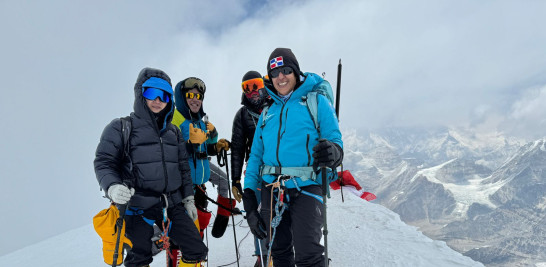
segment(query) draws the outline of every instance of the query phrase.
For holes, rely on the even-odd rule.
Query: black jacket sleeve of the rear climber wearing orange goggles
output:
[[[231,131],[231,180],[241,179],[243,164],[245,161],[246,135],[245,123],[243,118],[244,109],[241,108],[235,114],[233,119],[233,128]]]

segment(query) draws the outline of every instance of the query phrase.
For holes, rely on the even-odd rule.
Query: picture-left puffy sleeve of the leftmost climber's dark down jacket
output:
[[[121,120],[114,119],[100,137],[95,152],[95,175],[100,187],[106,192],[110,185],[122,183],[123,137]]]

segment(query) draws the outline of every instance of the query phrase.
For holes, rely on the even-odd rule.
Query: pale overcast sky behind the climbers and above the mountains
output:
[[[251,3],[252,2],[252,3]],[[0,1],[0,255],[107,206],[100,134],[132,111],[143,67],[207,84],[231,137],[248,70],[276,47],[336,83],[341,127],[546,129],[544,1]]]

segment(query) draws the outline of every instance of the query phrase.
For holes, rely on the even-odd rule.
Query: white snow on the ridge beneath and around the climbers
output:
[[[212,197],[213,192],[210,194]],[[340,190],[331,194],[332,198],[327,200],[331,266],[483,266],[450,249],[445,242],[424,236],[383,206],[348,193],[342,202]],[[102,208],[105,207],[97,208],[97,212]],[[240,266],[253,266],[254,245],[247,223],[242,216],[236,216],[235,225]],[[219,239],[209,234],[208,266],[230,263],[228,266],[237,266],[232,229],[230,224]],[[101,246],[99,236],[89,224],[4,255],[0,257],[0,266],[106,266]],[[165,266],[165,257],[164,252],[158,254],[151,266]]]

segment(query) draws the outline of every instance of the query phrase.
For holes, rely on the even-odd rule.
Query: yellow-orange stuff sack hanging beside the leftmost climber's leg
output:
[[[104,262],[108,265],[112,265],[114,261],[114,250],[118,236],[116,220],[118,218],[119,210],[114,204],[110,205],[107,209],[101,210],[93,217],[95,231],[99,234],[100,238],[102,238],[102,256],[104,257]],[[121,265],[123,263],[123,244],[133,247],[131,240],[125,236],[125,221],[123,221],[123,227],[121,229],[116,265]]]

